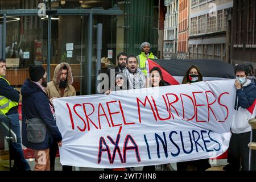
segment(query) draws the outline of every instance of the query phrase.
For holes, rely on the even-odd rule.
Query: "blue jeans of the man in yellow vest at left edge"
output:
[[[24,154],[21,146],[21,137],[20,137],[20,125],[19,125],[19,114],[10,114],[7,115],[11,121],[11,130],[16,134],[17,142],[11,142],[10,144],[10,158],[14,159],[14,168],[19,171],[27,171],[30,169],[30,166],[27,160],[24,158]],[[9,123],[6,123],[9,126]]]

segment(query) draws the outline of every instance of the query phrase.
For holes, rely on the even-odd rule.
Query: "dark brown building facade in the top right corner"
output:
[[[256,2],[234,0],[232,13],[232,64],[250,62],[256,67]]]

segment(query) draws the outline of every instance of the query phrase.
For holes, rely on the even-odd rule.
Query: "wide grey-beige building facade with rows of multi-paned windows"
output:
[[[189,59],[230,62],[230,13],[233,0],[191,0]]]

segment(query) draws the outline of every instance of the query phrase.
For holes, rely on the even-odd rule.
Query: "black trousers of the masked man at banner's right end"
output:
[[[232,171],[248,171],[249,170],[249,152],[248,143],[250,143],[251,132],[234,134],[232,133],[228,162],[230,164],[230,170]]]

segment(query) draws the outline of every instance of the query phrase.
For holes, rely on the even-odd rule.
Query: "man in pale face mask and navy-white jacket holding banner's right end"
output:
[[[229,170],[248,171],[251,126],[248,121],[255,117],[256,86],[249,80],[250,69],[245,64],[235,67],[237,80],[236,114],[231,125],[232,137],[229,144]],[[249,107],[253,108],[249,109]]]

